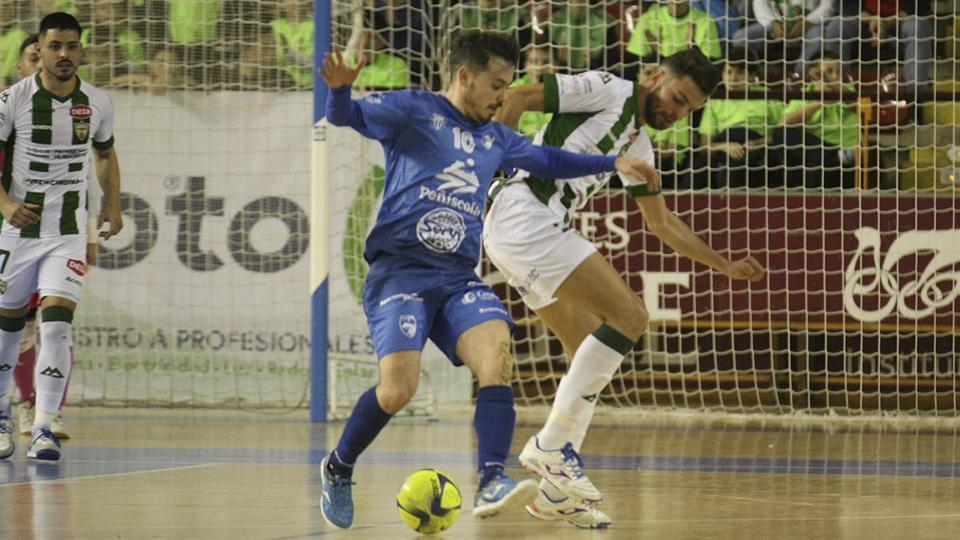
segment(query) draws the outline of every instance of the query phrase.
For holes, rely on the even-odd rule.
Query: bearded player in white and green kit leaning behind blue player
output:
[[[552,112],[535,143],[645,159],[647,178],[621,175],[621,181],[650,230],[682,255],[731,278],[756,280],[764,270],[755,259],[728,260],[667,208],[643,129],[667,128],[702,107],[719,79],[719,70],[703,53],[688,49],[664,59],[641,83],[596,71],[544,75],[540,84],[508,93],[497,119],[512,126],[524,110]],[[648,320],[643,300],[590,241],[570,228],[573,214],[609,179],[602,174],[553,180],[521,171],[491,192],[484,230],[490,260],[572,358],[546,425],[520,454],[520,462],[543,479],[527,511],[585,528],[606,527],[611,519],[591,504],[601,495],[583,473],[578,451],[598,394]]]

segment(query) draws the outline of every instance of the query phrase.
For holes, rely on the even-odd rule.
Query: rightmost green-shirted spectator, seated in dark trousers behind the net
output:
[[[807,70],[807,92],[840,93],[840,57],[822,52]],[[853,187],[852,166],[859,145],[860,117],[856,103],[827,98],[791,100],[784,111],[787,185],[808,188]]]

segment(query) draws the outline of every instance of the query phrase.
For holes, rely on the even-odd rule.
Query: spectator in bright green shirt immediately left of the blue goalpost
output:
[[[277,65],[300,88],[313,88],[313,6],[283,0],[283,17],[270,23],[277,43]]]

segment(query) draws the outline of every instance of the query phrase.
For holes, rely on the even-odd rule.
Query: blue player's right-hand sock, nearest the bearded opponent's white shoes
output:
[[[509,386],[487,386],[477,392],[477,409],[473,428],[477,430],[477,457],[481,472],[480,486],[503,470],[513,440],[517,413],[513,410],[513,389]]]

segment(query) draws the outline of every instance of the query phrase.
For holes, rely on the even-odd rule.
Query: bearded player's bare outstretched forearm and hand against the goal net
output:
[[[707,245],[679,216],[667,208],[662,194],[634,197],[633,200],[640,207],[650,232],[677,253],[723,272],[731,279],[757,281],[763,278],[765,270],[753,257],[731,261]]]

